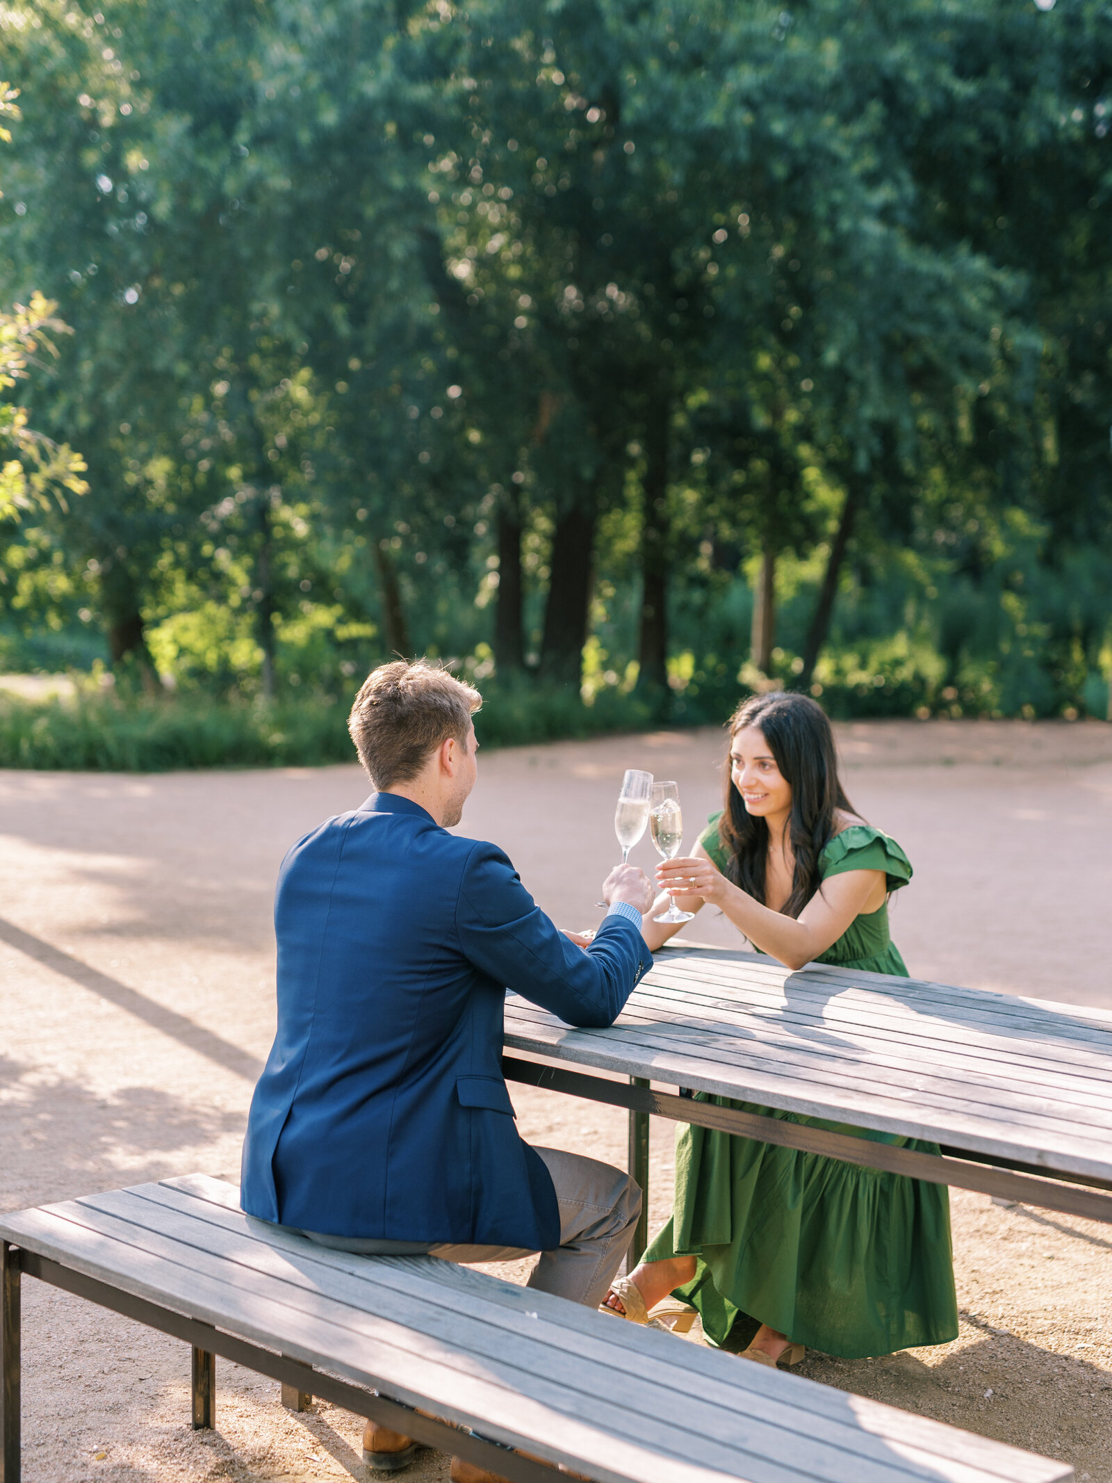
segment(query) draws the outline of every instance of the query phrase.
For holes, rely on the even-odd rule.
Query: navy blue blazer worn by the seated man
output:
[[[501,1074],[506,988],[611,1025],[652,958],[608,916],[587,952],[507,856],[372,793],[282,862],[277,1035],[243,1143],[248,1215],[325,1235],[552,1250],[559,1210]]]

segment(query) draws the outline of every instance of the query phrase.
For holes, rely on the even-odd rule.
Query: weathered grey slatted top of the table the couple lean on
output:
[[[506,1044],[1112,1180],[1112,1014],[684,948],[661,954],[611,1029],[509,997]]]

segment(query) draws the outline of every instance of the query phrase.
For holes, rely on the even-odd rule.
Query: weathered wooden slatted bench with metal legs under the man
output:
[[[0,1240],[3,1483],[19,1483],[22,1274],[190,1344],[199,1428],[215,1424],[219,1354],[516,1483],[555,1474],[506,1447],[599,1483],[1072,1477],[448,1262],[325,1250],[251,1221],[234,1185],[200,1175],[3,1215]]]

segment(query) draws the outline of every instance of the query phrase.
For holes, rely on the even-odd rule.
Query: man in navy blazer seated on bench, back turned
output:
[[[476,782],[479,703],[426,661],[384,664],[359,691],[351,737],[377,792],[282,862],[277,1034],[251,1103],[242,1204],[342,1250],[540,1252],[531,1286],[596,1307],[641,1191],[517,1134],[503,1004],[509,988],[569,1025],[611,1025],[652,964],[641,934],[652,887],[615,868],[584,951],[497,845],[448,832]],[[365,1447],[378,1467],[414,1450],[374,1425]],[[454,1464],[454,1479],[485,1476]]]

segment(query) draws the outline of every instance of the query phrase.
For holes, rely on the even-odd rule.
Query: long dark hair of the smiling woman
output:
[[[838,779],[833,731],[821,706],[810,696],[777,690],[743,700],[729,718],[729,740],[741,727],[764,733],[784,780],[792,785],[789,838],[795,851],[792,894],[781,911],[798,916],[821,884],[818,857],[836,833],[836,810],[855,814]],[[746,811],[725,762],[725,802],[718,835],[727,854],[725,875],[734,885],[765,905],[768,825]]]

